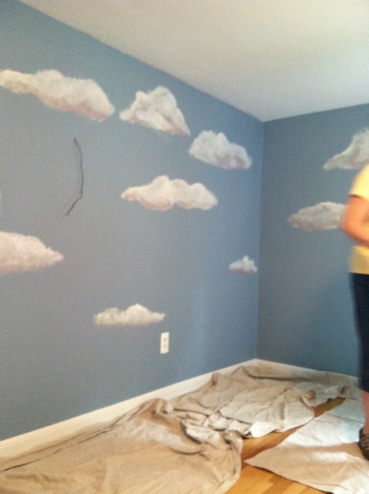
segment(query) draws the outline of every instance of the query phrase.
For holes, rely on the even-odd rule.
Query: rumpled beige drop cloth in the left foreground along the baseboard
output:
[[[183,427],[164,400],[86,437],[19,458],[0,472],[1,494],[223,494],[241,471],[239,437]]]

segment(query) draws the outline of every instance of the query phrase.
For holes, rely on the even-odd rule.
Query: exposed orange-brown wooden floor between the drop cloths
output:
[[[323,405],[315,408],[315,416],[331,410],[342,403],[343,399],[328,400]],[[286,432],[272,432],[264,437],[245,439],[242,449],[242,470],[238,481],[227,491],[227,494],[321,494],[321,490],[307,487],[298,482],[293,482],[274,473],[254,466],[246,465],[243,460],[255,456],[264,449],[272,448],[283,441],[287,436],[295,432],[291,429]]]

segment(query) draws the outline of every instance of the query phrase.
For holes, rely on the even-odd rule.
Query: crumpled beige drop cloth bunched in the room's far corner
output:
[[[261,361],[228,376],[215,373],[199,390],[169,403],[185,423],[260,437],[306,424],[314,406],[336,397],[359,399],[355,380]]]

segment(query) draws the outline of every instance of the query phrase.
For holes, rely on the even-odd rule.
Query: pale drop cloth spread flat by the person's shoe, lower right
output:
[[[362,423],[361,403],[345,400],[246,463],[326,492],[368,494],[369,461],[357,445]]]

